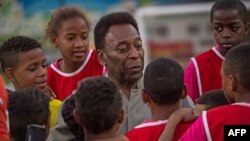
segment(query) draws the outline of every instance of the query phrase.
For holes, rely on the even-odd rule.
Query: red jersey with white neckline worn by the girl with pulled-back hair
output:
[[[96,50],[89,50],[89,53],[83,64],[72,73],[64,73],[60,70],[58,59],[52,63],[48,68],[47,84],[56,94],[56,98],[64,100],[72,94],[72,91],[77,88],[77,83],[86,77],[103,75],[105,68],[99,63],[97,59]]]

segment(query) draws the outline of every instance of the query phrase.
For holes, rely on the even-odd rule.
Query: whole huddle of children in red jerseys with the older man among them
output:
[[[76,7],[56,9],[44,39],[61,53],[46,67],[42,45],[26,36],[1,43],[0,141],[25,141],[31,124],[47,141],[222,141],[225,124],[250,125],[249,21],[240,0],[211,9],[215,45],[185,71],[158,58],[144,70],[139,28],[127,12],[94,28]],[[191,101],[190,101],[191,100]],[[195,104],[195,107],[193,105]],[[183,108],[189,107],[189,108]]]

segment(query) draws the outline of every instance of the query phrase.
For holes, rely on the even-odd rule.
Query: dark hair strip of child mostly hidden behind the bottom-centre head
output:
[[[70,132],[76,137],[76,141],[84,140],[84,132],[81,125],[79,125],[73,116],[73,111],[76,108],[75,95],[71,95],[67,98],[62,105],[62,117],[67,124]]]

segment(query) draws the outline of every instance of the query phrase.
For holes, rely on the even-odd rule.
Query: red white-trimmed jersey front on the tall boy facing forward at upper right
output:
[[[191,60],[195,66],[200,95],[222,88],[221,67],[224,57],[215,47]]]

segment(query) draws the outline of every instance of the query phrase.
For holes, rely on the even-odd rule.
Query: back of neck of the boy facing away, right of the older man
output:
[[[176,102],[171,105],[156,105],[152,104],[150,107],[152,120],[167,120],[169,116],[179,108],[180,102]]]

